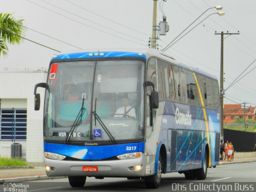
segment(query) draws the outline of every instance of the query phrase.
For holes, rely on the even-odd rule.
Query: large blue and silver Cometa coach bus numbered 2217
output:
[[[53,56],[44,97],[47,176],[204,180],[220,148],[218,80],[154,49],[82,50]],[[121,108],[127,107],[126,112]]]

